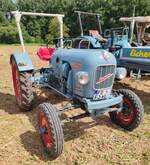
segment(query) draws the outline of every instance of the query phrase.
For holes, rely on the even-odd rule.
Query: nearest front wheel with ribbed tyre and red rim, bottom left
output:
[[[51,159],[56,159],[63,151],[63,130],[60,119],[54,108],[49,103],[38,106],[39,132],[46,152]]]

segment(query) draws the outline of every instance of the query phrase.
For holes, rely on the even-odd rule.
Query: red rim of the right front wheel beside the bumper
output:
[[[123,111],[117,112],[117,119],[122,124],[128,125],[133,121],[136,109],[134,109],[131,101],[125,96],[123,98],[123,106],[128,107],[128,112],[126,114]]]

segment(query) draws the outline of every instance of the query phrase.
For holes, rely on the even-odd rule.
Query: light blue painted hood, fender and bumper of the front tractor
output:
[[[106,59],[104,55],[108,54]],[[16,60],[19,71],[33,70],[32,62],[27,53],[15,53],[11,56]],[[122,96],[113,96],[111,92],[103,100],[93,100],[96,91],[103,89],[94,89],[95,73],[98,66],[114,65],[116,59],[113,54],[102,49],[57,49],[51,59],[50,72],[42,72],[40,75],[32,77],[32,83],[37,86],[50,87],[49,77],[51,74],[56,78],[67,78],[67,93],[63,93],[62,88],[56,89],[58,93],[69,98],[78,98],[86,104],[87,110],[91,113],[104,113],[109,107],[122,103]],[[48,71],[48,70],[47,70]],[[77,81],[79,71],[87,72],[90,80],[88,84],[81,85]],[[115,73],[114,73],[115,77]],[[112,83],[113,86],[113,83]],[[109,89],[112,91],[112,86]],[[51,86],[52,87],[52,86]],[[54,87],[52,89],[55,90]],[[62,90],[62,91],[61,91]],[[96,114],[95,114],[96,115]]]

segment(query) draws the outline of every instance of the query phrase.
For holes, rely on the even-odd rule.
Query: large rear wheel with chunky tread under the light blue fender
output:
[[[31,110],[34,98],[31,73],[19,72],[14,58],[11,59],[11,68],[17,104],[21,110]]]

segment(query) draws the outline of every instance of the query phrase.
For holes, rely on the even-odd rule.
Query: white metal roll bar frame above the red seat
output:
[[[20,43],[22,45],[23,52],[26,52],[24,40],[23,40],[23,36],[22,36],[22,30],[20,27],[20,20],[23,15],[24,16],[57,17],[57,19],[59,21],[59,25],[60,25],[60,41],[61,41],[60,43],[61,43],[61,47],[63,47],[63,17],[64,17],[63,14],[33,13],[33,12],[22,12],[22,11],[18,11],[18,10],[12,11],[11,13],[15,16],[17,30],[19,33],[19,39],[20,39]]]

